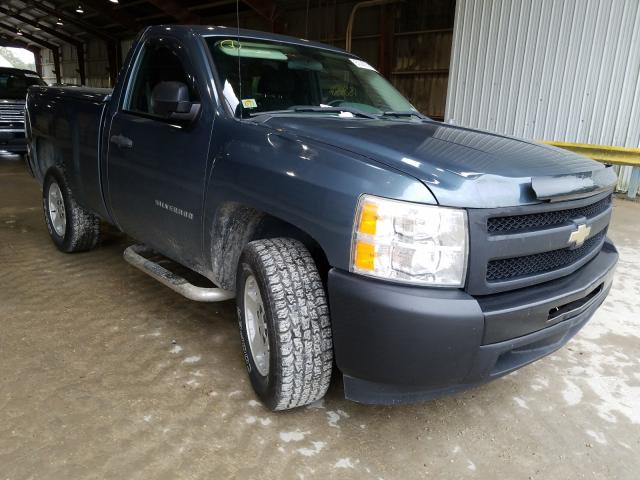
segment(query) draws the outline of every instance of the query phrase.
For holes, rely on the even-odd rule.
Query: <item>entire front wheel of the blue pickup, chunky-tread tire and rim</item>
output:
[[[289,238],[251,242],[236,282],[244,358],[262,402],[287,410],[322,398],[333,345],[326,294],[309,251]]]

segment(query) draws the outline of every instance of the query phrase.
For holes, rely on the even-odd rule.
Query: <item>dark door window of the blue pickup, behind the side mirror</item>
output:
[[[124,110],[154,115],[151,96],[161,82],[180,82],[187,86],[189,101],[198,102],[194,78],[180,57],[182,48],[173,44],[147,43],[141,52],[138,68],[129,83]]]

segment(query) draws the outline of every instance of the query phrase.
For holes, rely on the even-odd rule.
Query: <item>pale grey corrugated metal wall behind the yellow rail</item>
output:
[[[445,120],[639,147],[640,1],[458,0]]]

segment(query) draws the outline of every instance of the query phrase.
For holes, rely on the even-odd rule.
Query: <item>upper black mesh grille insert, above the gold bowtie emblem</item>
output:
[[[593,218],[607,210],[610,205],[611,195],[591,205],[571,208],[569,210],[489,218],[487,220],[487,231],[491,235],[496,235],[555,227],[581,217],[586,217],[587,219]]]

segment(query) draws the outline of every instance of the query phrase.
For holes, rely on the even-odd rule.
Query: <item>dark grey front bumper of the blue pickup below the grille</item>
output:
[[[333,342],[345,396],[381,404],[428,400],[542,358],[591,318],[611,289],[617,260],[607,240],[567,277],[475,298],[333,269]]]

